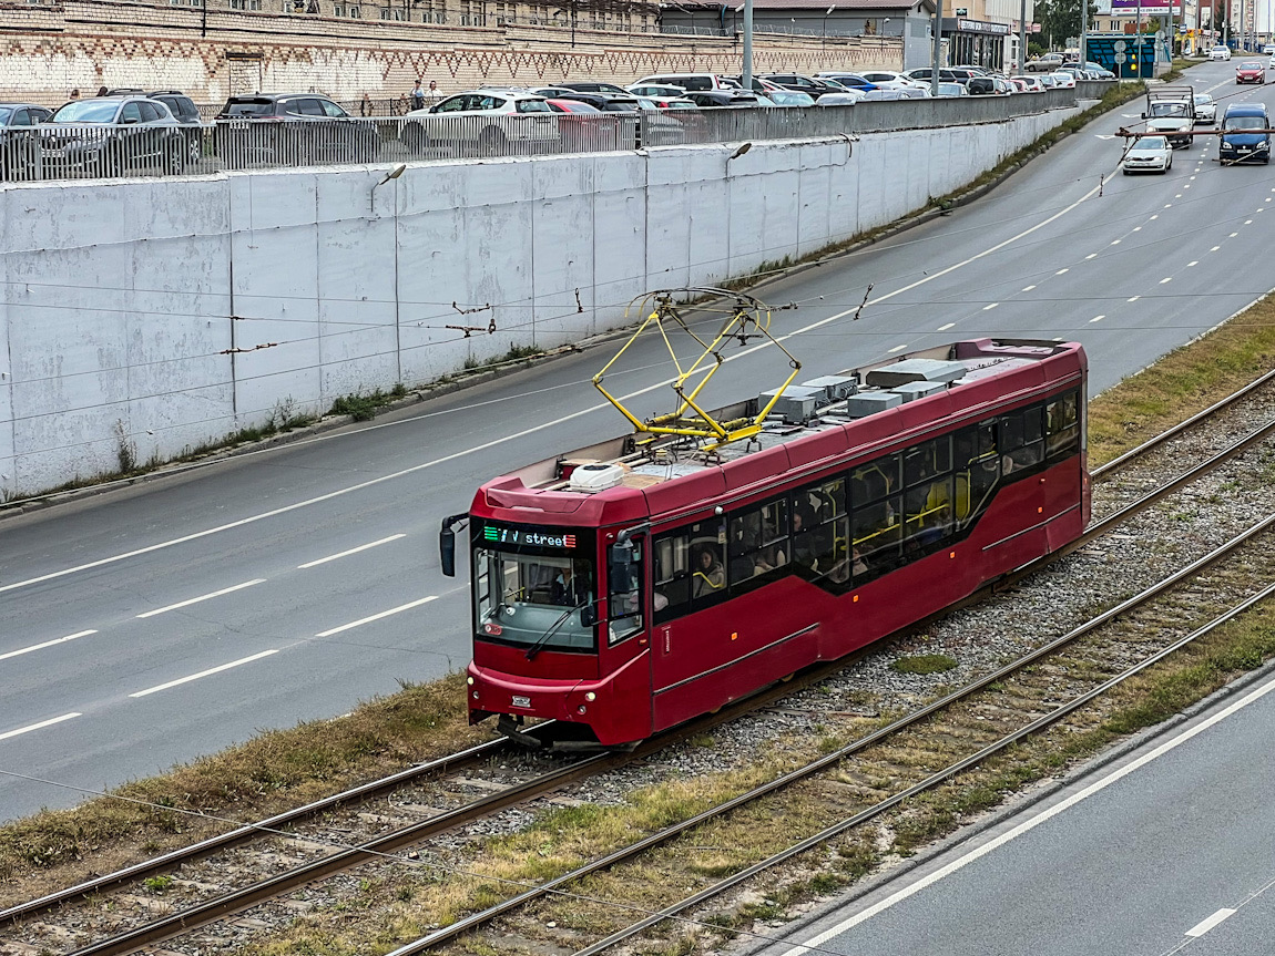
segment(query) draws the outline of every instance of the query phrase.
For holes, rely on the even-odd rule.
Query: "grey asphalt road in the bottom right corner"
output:
[[[755,956],[1251,956],[1275,920],[1275,673]],[[1262,939],[1266,939],[1264,943]]]

